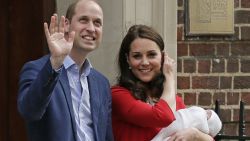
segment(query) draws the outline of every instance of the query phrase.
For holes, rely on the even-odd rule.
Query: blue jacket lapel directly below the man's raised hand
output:
[[[66,72],[64,67],[63,67],[63,70],[62,70],[62,74],[61,74],[61,76],[59,78],[59,81],[60,81],[60,84],[61,84],[61,86],[63,88],[64,96],[65,96],[65,99],[67,101],[67,105],[68,105],[68,108],[69,108],[69,112],[70,112],[70,116],[71,116],[71,122],[72,122],[73,130],[74,130],[73,132],[74,132],[74,135],[76,135],[76,123],[75,123],[75,116],[74,116],[74,110],[73,110],[72,99],[71,99],[69,80],[68,80],[67,72]],[[75,138],[76,138],[76,136],[75,136]]]

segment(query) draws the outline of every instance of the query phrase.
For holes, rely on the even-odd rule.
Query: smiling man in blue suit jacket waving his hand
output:
[[[18,110],[28,138],[112,141],[110,85],[87,59],[102,39],[102,8],[78,0],[57,21],[54,14],[44,23],[50,54],[26,63],[20,74]]]

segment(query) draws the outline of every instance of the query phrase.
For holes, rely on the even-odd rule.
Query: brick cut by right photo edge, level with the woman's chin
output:
[[[247,89],[250,88],[250,76],[235,76],[234,77],[235,89]]]

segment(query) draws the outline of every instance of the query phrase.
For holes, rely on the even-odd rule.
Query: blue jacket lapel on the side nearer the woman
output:
[[[98,120],[99,120],[99,110],[101,106],[101,96],[99,95],[98,83],[96,77],[93,73],[90,73],[88,76],[88,85],[89,85],[89,94],[90,94],[90,107],[92,120],[94,124],[95,132],[97,131]]]

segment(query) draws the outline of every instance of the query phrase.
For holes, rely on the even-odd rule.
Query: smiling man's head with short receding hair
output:
[[[84,52],[97,48],[102,40],[102,27],[101,7],[93,1],[79,1],[69,25],[69,30],[75,31],[74,48]]]

